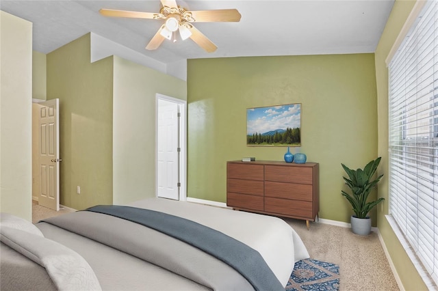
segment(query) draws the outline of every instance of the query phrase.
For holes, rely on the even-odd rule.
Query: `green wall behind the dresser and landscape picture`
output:
[[[188,196],[226,202],[227,161],[283,161],[286,148],[246,146],[246,109],[289,103],[302,104],[292,153],[320,163],[320,217],[349,222],[341,163],[377,156],[374,54],[189,60]]]

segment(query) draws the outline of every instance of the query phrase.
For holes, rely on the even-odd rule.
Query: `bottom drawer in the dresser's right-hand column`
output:
[[[265,197],[265,212],[313,220],[312,202]],[[316,215],[315,215],[316,216]]]

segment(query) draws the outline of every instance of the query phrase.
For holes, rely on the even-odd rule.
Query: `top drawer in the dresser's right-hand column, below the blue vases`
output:
[[[265,166],[265,180],[298,184],[312,184],[311,167]]]

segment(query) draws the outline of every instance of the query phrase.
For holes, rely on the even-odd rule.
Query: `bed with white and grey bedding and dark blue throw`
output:
[[[0,232],[1,290],[284,290],[309,258],[279,218],[162,198],[36,225],[2,213]]]

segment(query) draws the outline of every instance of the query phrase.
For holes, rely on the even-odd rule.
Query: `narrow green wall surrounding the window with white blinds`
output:
[[[379,172],[388,173],[388,70],[385,59],[393,46],[404,22],[411,13],[415,1],[396,1],[383,31],[381,40],[376,48],[376,83],[378,99],[378,154],[382,156]],[[385,197],[383,210],[378,208],[378,230],[381,232],[391,260],[405,290],[427,290],[420,275],[418,275],[407,253],[391,226],[385,218],[388,214],[388,182],[387,179],[379,183],[378,193]]]

